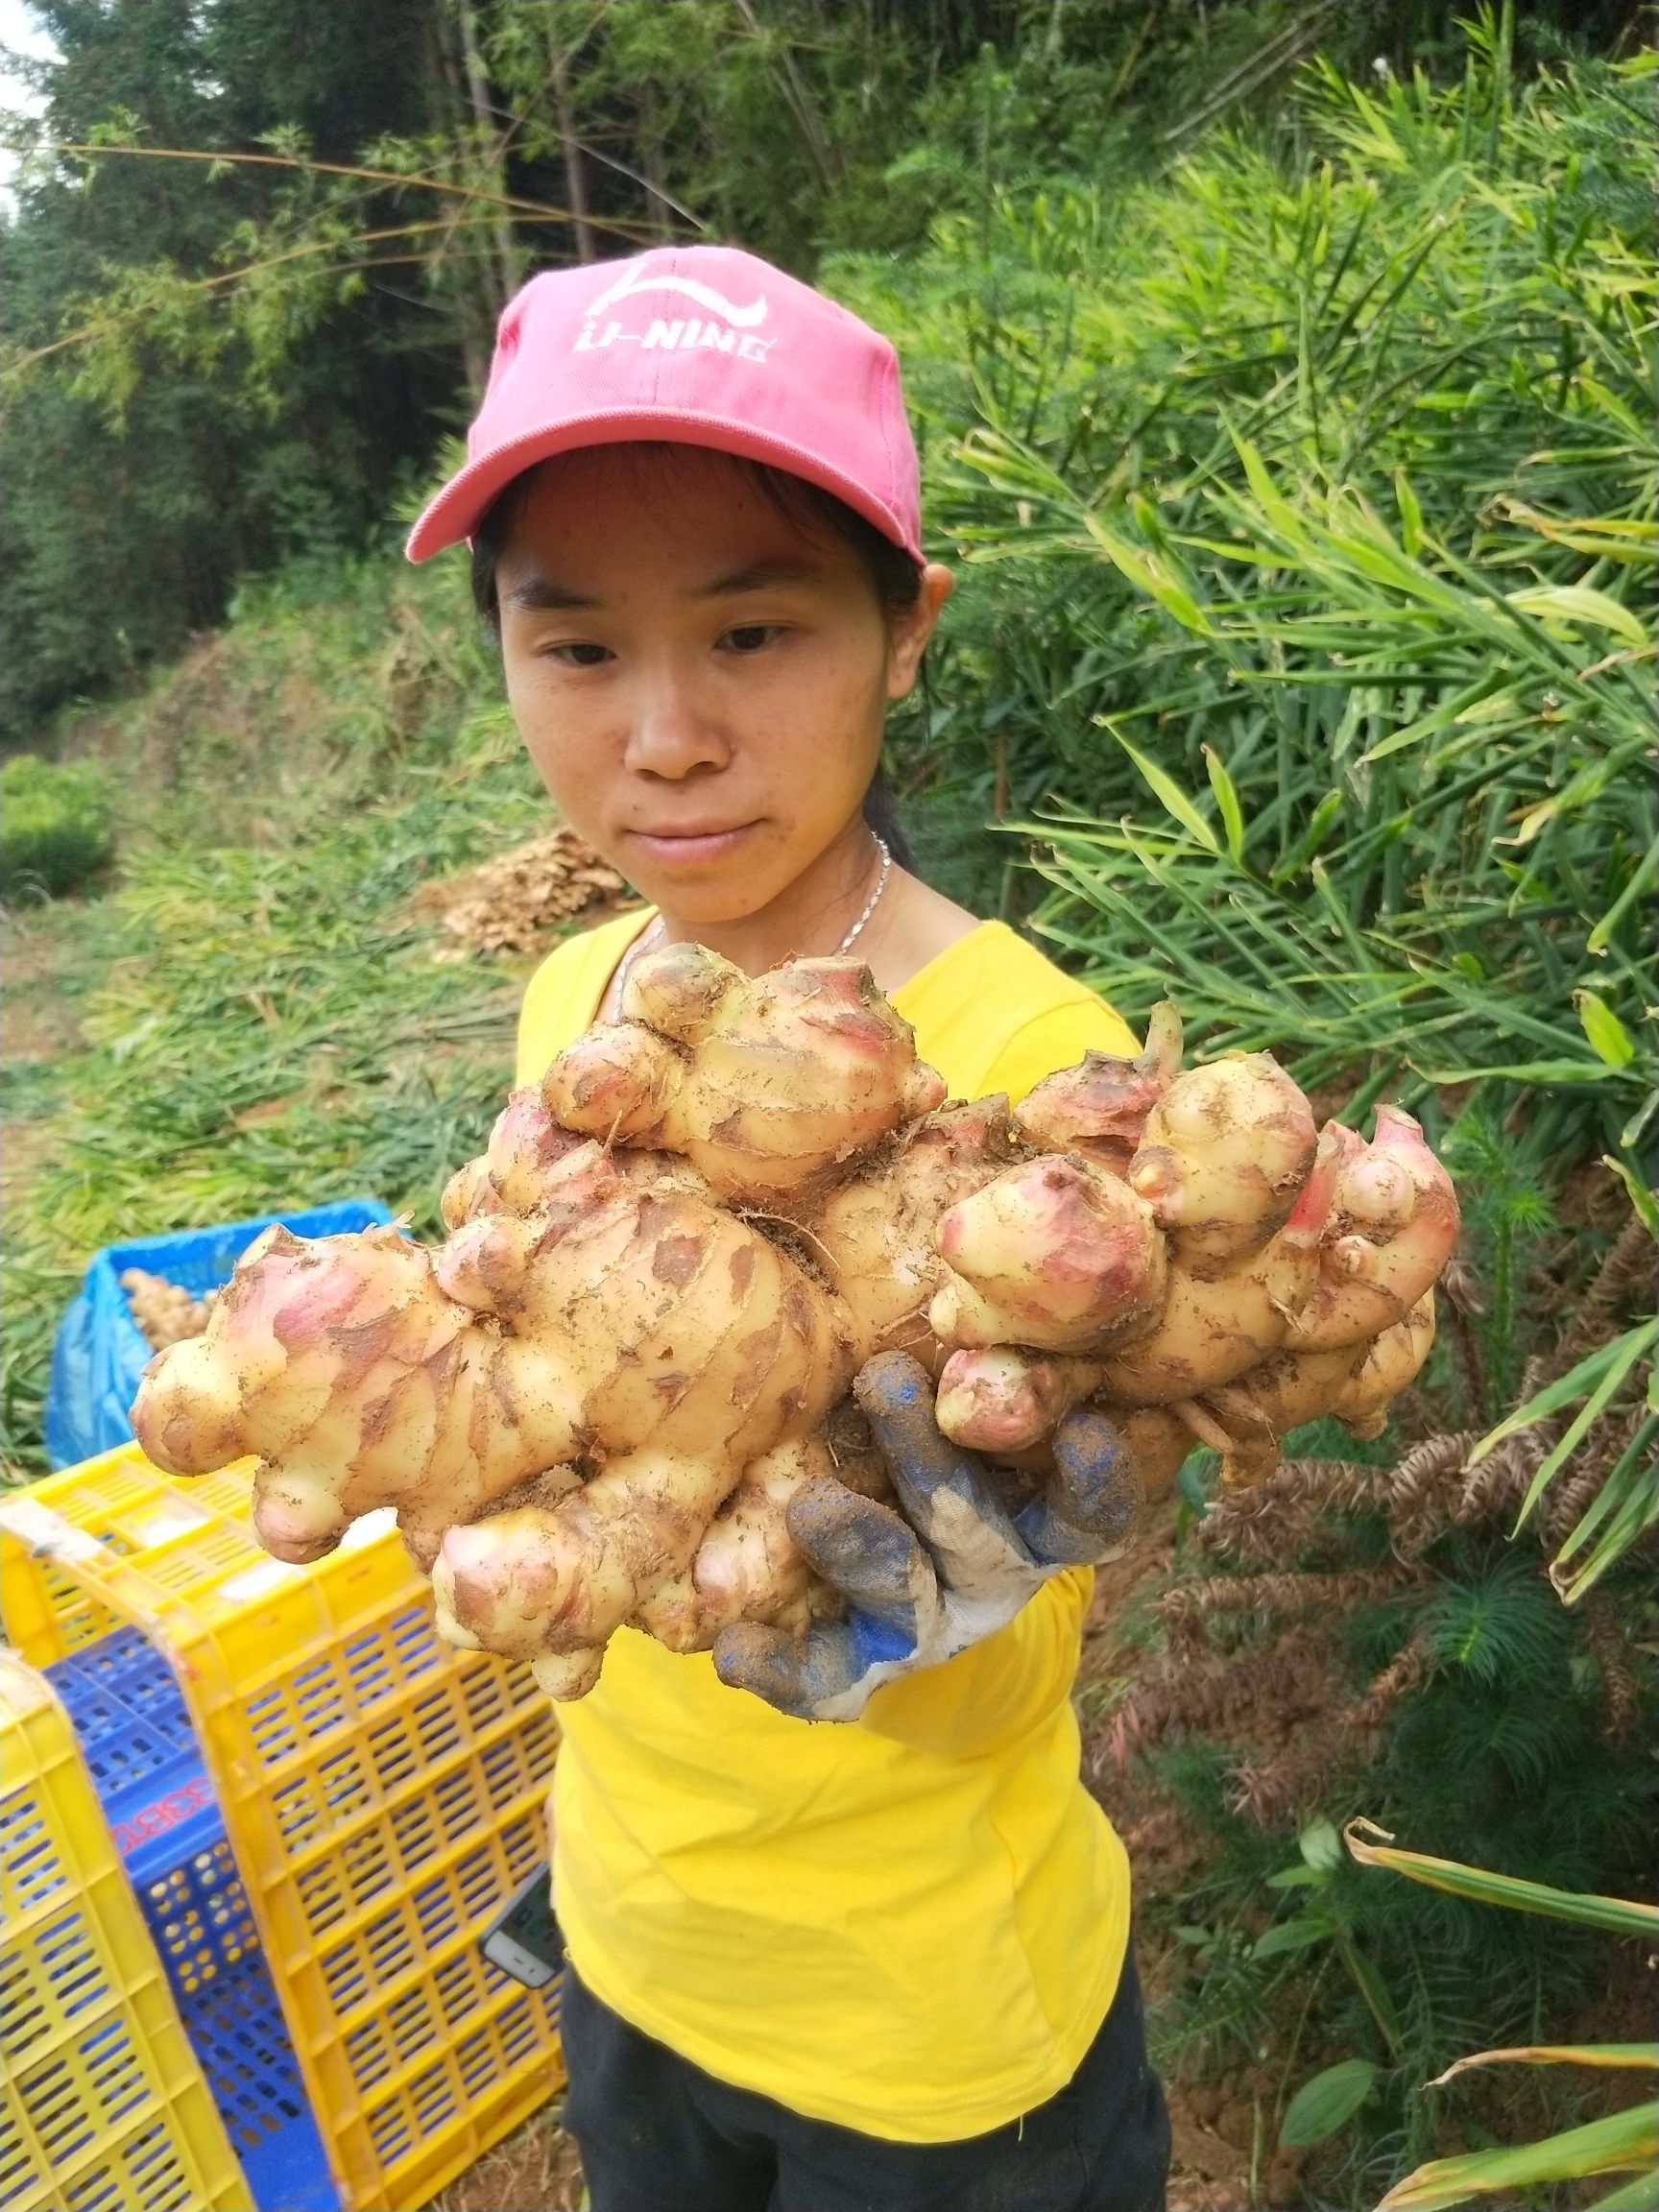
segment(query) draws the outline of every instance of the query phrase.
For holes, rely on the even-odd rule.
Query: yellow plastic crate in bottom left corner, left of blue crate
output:
[[[69,1714],[4,1648],[0,2059],[9,2212],[246,2212]]]

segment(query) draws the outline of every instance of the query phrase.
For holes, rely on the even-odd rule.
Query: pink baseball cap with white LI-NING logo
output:
[[[856,314],[734,246],[531,276],[502,310],[467,467],[409,531],[409,560],[471,538],[538,460],[628,438],[787,469],[922,560],[898,356]]]

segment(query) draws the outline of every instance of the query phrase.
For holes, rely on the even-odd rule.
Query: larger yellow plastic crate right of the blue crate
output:
[[[557,1997],[476,1951],[546,1849],[553,1708],[438,1641],[389,1515],[285,1566],[250,1484],[128,1444],[0,1500],[0,1610],[35,1663],[88,1619],[168,1657],[343,2203],[416,2212],[564,2081]]]

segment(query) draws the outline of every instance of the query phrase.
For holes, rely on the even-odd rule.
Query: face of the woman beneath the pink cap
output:
[[[495,571],[513,719],[564,818],[686,922],[759,914],[856,823],[949,591],[889,622],[858,553],[723,453],[538,471]]]

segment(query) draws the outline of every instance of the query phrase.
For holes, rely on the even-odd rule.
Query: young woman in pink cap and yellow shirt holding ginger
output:
[[[409,553],[462,538],[549,794],[650,902],[540,967],[520,1082],[679,940],[752,973],[856,951],[958,1097],[1135,1048],[905,865],[883,719],[951,577],[922,557],[891,347],[856,316],[723,248],[533,279]],[[929,1553],[949,1599],[949,1542]],[[717,1672],[624,1628],[562,1708],[566,2119],[595,2212],[1164,2203],[1128,1863],[1068,1701],[1091,1577],[1053,1557],[945,1639],[761,1632]]]

